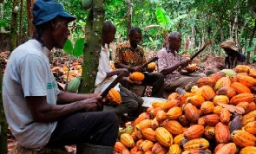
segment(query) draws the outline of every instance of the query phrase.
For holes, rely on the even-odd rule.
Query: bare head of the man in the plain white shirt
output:
[[[114,24],[108,21],[103,22],[102,45],[113,42],[115,39],[115,32],[116,29]]]

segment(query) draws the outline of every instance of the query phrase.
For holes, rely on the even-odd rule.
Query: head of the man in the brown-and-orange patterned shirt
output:
[[[129,42],[131,43],[131,46],[136,48],[137,44],[141,42],[141,39],[142,39],[141,29],[137,27],[130,29],[128,37],[129,37]]]

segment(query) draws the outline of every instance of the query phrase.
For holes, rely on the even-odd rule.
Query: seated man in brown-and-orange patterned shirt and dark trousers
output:
[[[141,85],[146,85],[152,88],[152,97],[163,97],[163,79],[164,76],[160,73],[149,73],[145,68],[141,67],[146,63],[146,57],[144,50],[138,45],[141,42],[142,33],[139,28],[132,28],[128,34],[129,41],[118,44],[115,53],[115,67],[117,68],[128,68],[130,72],[143,72],[145,79]],[[130,89],[131,83],[126,82],[124,85]]]

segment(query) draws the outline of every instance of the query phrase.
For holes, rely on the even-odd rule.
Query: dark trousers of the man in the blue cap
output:
[[[114,112],[78,112],[58,121],[49,147],[89,143],[114,146],[119,120]]]

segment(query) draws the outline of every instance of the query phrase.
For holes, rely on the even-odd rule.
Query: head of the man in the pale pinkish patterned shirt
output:
[[[169,36],[168,36],[168,43],[169,43],[169,48],[172,51],[179,51],[181,48],[181,35],[177,31],[173,31]]]

